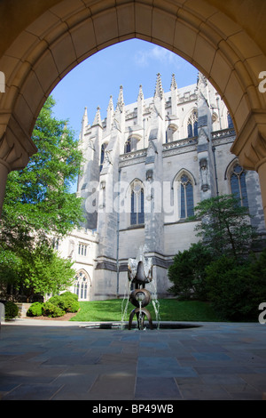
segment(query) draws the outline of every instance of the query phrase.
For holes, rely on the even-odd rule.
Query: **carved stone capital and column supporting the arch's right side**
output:
[[[239,157],[240,165],[246,170],[255,170],[259,174],[266,222],[266,110],[250,114],[231,152]]]

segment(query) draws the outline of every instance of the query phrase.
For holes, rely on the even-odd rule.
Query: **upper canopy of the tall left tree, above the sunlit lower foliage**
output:
[[[8,176],[0,242],[10,246],[64,236],[82,220],[81,199],[68,192],[82,154],[66,121],[52,116],[54,104],[49,97],[36,120],[32,138],[38,152],[25,169]]]

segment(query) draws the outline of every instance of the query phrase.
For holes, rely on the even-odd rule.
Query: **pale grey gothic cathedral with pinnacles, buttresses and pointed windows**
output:
[[[172,76],[164,92],[157,75],[152,98],[142,86],[126,105],[120,88],[106,118],[82,118],[84,157],[77,194],[85,222],[59,245],[77,271],[72,292],[80,300],[123,297],[128,260],[139,248],[153,258],[159,297],[168,297],[168,266],[178,251],[197,242],[195,221],[187,221],[200,200],[237,194],[264,235],[257,173],[231,154],[235,132],[223,100],[199,73],[196,84],[177,88]]]

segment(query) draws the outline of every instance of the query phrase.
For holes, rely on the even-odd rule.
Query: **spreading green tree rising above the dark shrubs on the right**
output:
[[[246,207],[239,205],[239,199],[232,195],[202,200],[195,207],[193,220],[200,221],[196,227],[200,231],[198,236],[215,257],[246,256],[257,237]]]

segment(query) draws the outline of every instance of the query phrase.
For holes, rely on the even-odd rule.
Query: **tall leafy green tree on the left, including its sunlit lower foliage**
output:
[[[32,138],[38,152],[25,169],[8,176],[0,229],[0,278],[38,293],[69,283],[70,270],[74,276],[69,262],[54,252],[52,238],[66,236],[82,221],[81,198],[69,193],[82,152],[66,121],[53,117],[54,105],[49,97],[36,120]]]

